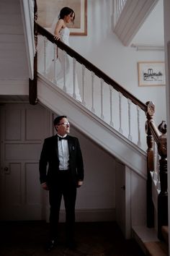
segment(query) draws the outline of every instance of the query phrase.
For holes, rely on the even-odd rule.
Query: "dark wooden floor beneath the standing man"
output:
[[[1,223],[1,256],[144,256],[134,240],[125,240],[114,222],[76,223],[76,250],[65,247],[64,223],[58,247],[45,252],[48,223]]]

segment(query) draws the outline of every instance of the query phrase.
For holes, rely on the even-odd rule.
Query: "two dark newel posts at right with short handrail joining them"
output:
[[[153,166],[153,141],[156,142],[158,148],[159,170],[161,192],[158,194],[158,238],[162,239],[161,227],[168,226],[168,192],[167,192],[167,147],[166,147],[166,122],[162,121],[156,127],[153,121],[155,106],[153,103],[146,103],[148,106],[146,133],[148,144],[148,182],[147,182],[147,208],[148,208],[148,227],[154,226],[154,213],[152,201],[152,179],[150,172],[154,170]]]

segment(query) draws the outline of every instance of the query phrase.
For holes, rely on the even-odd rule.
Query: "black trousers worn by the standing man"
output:
[[[73,240],[75,224],[76,184],[69,171],[59,171],[58,178],[49,188],[50,239],[58,237],[58,221],[63,196],[66,209],[66,240]]]

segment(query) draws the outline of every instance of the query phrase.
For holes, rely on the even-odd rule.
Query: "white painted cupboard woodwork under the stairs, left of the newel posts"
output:
[[[143,197],[146,194],[146,179],[119,161],[115,163],[115,170],[116,221],[125,238],[130,239],[133,226],[146,225],[146,198]],[[138,182],[133,184],[135,179]]]

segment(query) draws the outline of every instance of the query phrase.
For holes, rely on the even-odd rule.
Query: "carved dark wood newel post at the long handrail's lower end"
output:
[[[146,141],[148,145],[147,149],[147,182],[146,182],[146,207],[147,207],[147,226],[152,228],[154,226],[154,207],[152,200],[152,179],[150,171],[153,171],[153,135],[151,135],[151,129],[149,128],[149,121],[153,119],[155,113],[155,105],[152,101],[146,102]]]

